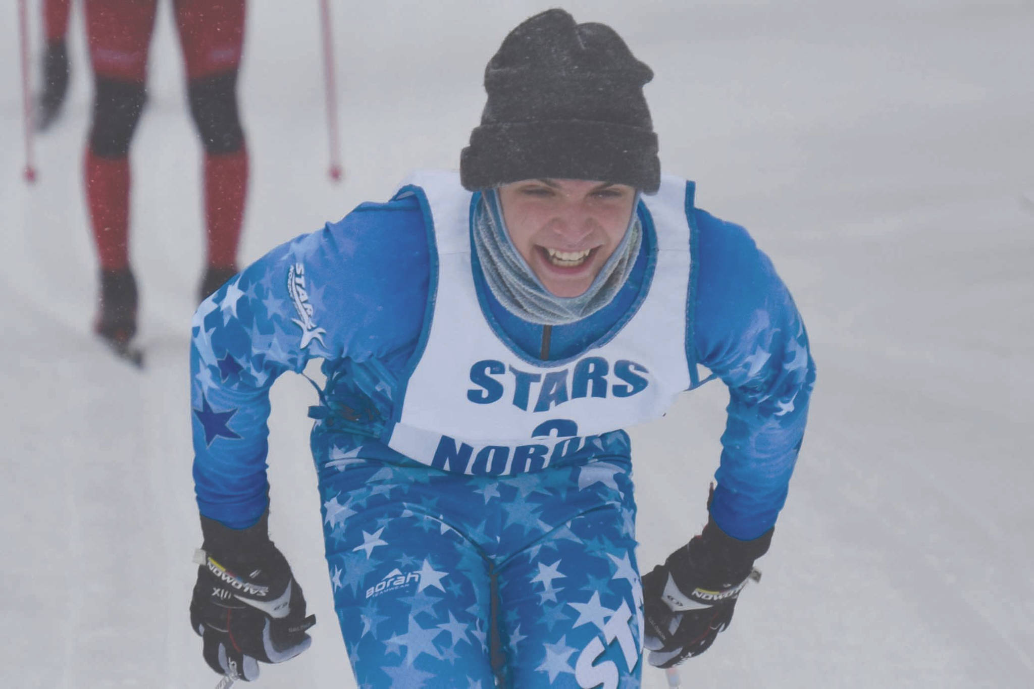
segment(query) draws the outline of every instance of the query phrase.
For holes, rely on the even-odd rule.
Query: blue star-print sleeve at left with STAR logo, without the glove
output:
[[[280,374],[312,358],[383,356],[419,336],[425,230],[419,209],[398,207],[361,206],[273,249],[199,307],[190,397],[205,516],[245,528],[266,509],[269,390]]]

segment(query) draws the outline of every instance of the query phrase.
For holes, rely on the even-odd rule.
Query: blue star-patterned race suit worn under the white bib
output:
[[[709,369],[730,395],[710,511],[751,539],[785,501],[815,369],[768,258],[742,227],[693,208],[688,188],[688,365]],[[420,193],[364,203],[273,249],[202,304],[190,355],[201,512],[232,528],[263,513],[269,388],[322,358],[311,449],[359,685],[487,689],[496,661],[506,686],[637,687],[642,594],[624,431],[507,475],[433,468],[384,441],[433,313],[429,217]],[[609,305],[552,327],[551,361],[625,322],[656,251],[647,233]],[[509,313],[472,270],[483,309],[537,355],[542,326]]]

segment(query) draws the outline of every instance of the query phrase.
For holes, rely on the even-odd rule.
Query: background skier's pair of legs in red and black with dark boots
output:
[[[85,0],[94,72],[93,121],[84,176],[100,260],[94,328],[125,350],[136,332],[129,261],[129,145],[147,101],[147,59],[157,0]],[[173,0],[190,114],[205,150],[208,257],[199,301],[237,273],[248,153],[237,107],[244,0]]]

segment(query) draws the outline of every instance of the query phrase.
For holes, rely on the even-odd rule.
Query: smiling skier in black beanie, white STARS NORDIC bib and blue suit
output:
[[[202,304],[190,618],[216,671],[252,680],[310,643],[265,463],[270,385],[313,357],[327,562],[359,686],[637,687],[643,647],[668,666],[728,626],[815,373],[768,258],[661,175],[651,77],[610,27],[533,17],[488,63],[458,175],[415,174]],[[710,519],[640,580],[620,429],[706,382],[700,366],[730,393]]]

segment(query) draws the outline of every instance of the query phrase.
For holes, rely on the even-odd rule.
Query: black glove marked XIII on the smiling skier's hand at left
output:
[[[205,536],[190,626],[205,639],[205,661],[220,675],[258,677],[258,661],[278,663],[309,648],[302,587],[269,539],[269,512],[247,529],[201,518]]]

